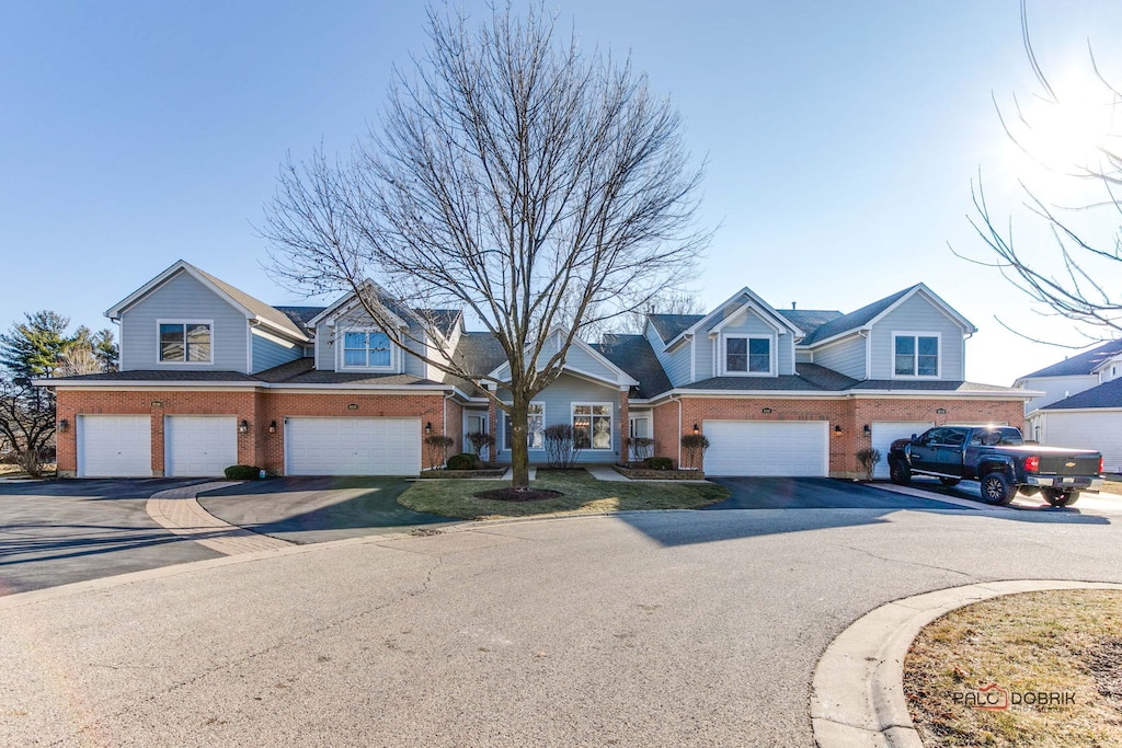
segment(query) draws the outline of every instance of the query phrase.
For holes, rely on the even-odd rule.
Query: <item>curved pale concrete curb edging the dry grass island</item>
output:
[[[843,631],[818,661],[810,721],[819,748],[922,748],[904,701],[903,662],[920,630],[963,606],[1040,590],[1122,590],[1111,582],[1011,580],[896,600]]]

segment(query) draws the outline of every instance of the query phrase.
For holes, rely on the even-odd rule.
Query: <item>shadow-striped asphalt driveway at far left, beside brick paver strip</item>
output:
[[[145,511],[156,491],[196,482],[0,482],[0,595],[221,556]]]

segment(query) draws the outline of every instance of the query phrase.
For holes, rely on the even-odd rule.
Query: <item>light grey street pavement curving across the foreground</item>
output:
[[[811,746],[827,645],[902,597],[1122,582],[1094,510],[475,523],[0,598],[0,745]]]

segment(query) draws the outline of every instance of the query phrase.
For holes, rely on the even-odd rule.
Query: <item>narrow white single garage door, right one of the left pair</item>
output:
[[[164,422],[164,474],[223,475],[238,464],[234,416],[168,416]]]

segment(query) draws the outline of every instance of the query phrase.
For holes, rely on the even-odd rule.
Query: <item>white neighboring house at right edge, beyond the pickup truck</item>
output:
[[[1122,472],[1122,340],[1113,340],[1021,377],[1045,393],[1026,404],[1026,435],[1042,444],[1098,450]]]

